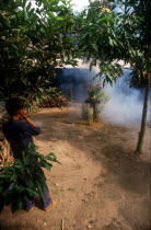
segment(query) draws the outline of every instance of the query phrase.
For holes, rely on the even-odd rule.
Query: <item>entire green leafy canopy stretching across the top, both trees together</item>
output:
[[[150,68],[150,1],[90,0],[79,14],[70,0],[35,3],[37,8],[27,0],[0,3],[1,87],[7,96],[47,93],[54,68],[74,66],[79,57],[90,61],[90,69],[98,65],[97,76],[109,83],[121,74],[119,60],[141,78]]]

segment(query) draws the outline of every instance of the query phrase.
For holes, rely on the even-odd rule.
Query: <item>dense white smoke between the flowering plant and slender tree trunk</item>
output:
[[[105,105],[103,116],[115,124],[137,124],[141,122],[144,92],[129,88],[130,71],[125,70],[124,76],[116,83],[105,87],[109,101]],[[150,122],[150,103],[148,107],[148,122]]]

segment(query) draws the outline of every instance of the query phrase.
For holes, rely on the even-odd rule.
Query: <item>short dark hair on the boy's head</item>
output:
[[[18,112],[22,108],[24,108],[24,100],[20,97],[12,97],[5,102],[5,110],[10,116],[18,115]]]

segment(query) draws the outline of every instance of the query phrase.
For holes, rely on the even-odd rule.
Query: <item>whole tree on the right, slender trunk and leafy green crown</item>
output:
[[[150,0],[90,0],[88,9],[76,21],[80,28],[81,56],[91,61],[90,69],[98,66],[96,77],[112,84],[121,74],[124,67],[119,61],[124,60],[133,70],[133,85],[146,85],[137,154],[141,153],[151,87],[150,12]]]

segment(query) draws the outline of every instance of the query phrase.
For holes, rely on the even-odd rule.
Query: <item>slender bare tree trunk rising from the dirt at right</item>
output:
[[[146,123],[147,123],[147,111],[148,111],[148,99],[149,99],[149,91],[150,91],[150,74],[147,76],[147,88],[144,93],[144,101],[143,101],[143,111],[142,111],[142,118],[141,118],[141,128],[139,133],[138,143],[136,148],[136,154],[142,153],[142,143],[146,133]]]

